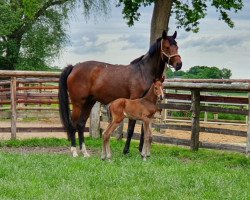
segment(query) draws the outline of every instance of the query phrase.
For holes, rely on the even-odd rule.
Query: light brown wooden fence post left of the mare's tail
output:
[[[10,98],[11,98],[11,139],[16,139],[16,77],[11,77],[10,81]]]

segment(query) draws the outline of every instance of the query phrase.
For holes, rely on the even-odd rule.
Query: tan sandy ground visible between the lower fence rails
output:
[[[108,123],[101,123],[102,128],[106,128]],[[178,125],[191,125],[190,123],[180,123],[177,122]],[[40,122],[18,122],[18,127],[53,127],[53,126],[61,126],[59,121],[40,121]],[[89,124],[87,124],[89,126]],[[213,124],[213,123],[202,123],[202,127],[208,128],[221,128],[221,129],[230,129],[237,131],[247,131],[246,124]],[[0,127],[10,127],[10,122],[0,122]],[[124,131],[127,131],[127,124],[124,125]],[[135,132],[140,133],[141,125],[136,125]],[[157,131],[153,129],[154,135],[165,135],[169,137],[175,137],[180,139],[190,139],[191,131],[182,131],[182,130],[163,130]],[[85,133],[87,136],[88,133]],[[27,138],[44,138],[44,137],[55,137],[55,138],[67,138],[66,133],[64,132],[27,132],[27,133],[17,133],[18,139],[27,139]],[[10,139],[10,133],[0,133],[0,140]],[[245,145],[246,137],[239,136],[230,136],[230,135],[222,135],[222,134],[212,134],[212,133],[200,133],[200,141],[202,142],[210,142],[210,143],[226,143],[226,144],[237,144],[237,145]]]

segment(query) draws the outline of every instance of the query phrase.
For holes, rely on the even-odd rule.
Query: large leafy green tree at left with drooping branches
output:
[[[67,42],[65,24],[75,6],[85,16],[106,12],[107,0],[0,0],[0,69],[49,69]]]

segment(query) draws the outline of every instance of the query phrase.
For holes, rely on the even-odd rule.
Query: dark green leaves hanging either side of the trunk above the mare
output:
[[[151,5],[154,0],[119,0],[117,6],[123,5],[124,19],[127,20],[129,26],[133,26],[135,21],[140,18],[139,8],[141,6]],[[210,5],[209,5],[210,4]],[[243,8],[242,0],[173,0],[173,7],[170,14],[175,14],[177,19],[177,27],[184,28],[186,31],[199,31],[199,21],[207,14],[207,7],[212,6],[219,12],[219,19],[223,20],[230,28],[234,27],[234,23],[229,17],[228,11],[235,12]],[[167,24],[166,24],[167,26]],[[167,27],[166,27],[167,28]]]

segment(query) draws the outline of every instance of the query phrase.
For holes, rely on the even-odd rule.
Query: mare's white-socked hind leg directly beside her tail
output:
[[[72,126],[70,127],[70,140],[71,140],[71,153],[73,157],[77,157],[77,150],[76,150],[76,124],[81,115],[81,108],[79,106],[73,105],[72,109]]]

